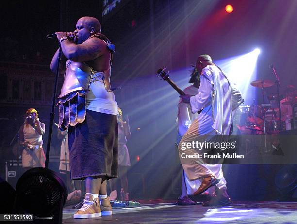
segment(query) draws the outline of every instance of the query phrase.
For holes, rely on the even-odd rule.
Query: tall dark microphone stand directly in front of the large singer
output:
[[[60,60],[61,60],[61,43],[59,44],[59,55],[57,58],[57,71],[55,76],[55,86],[54,86],[54,92],[52,96],[52,104],[51,104],[51,112],[50,112],[50,119],[49,119],[49,136],[48,136],[48,144],[47,144],[47,153],[46,153],[46,162],[45,162],[45,168],[48,168],[49,166],[49,150],[50,150],[50,142],[51,142],[51,134],[52,134],[52,127],[54,123],[55,118],[55,103],[56,103],[56,97],[57,97],[57,88],[58,88],[58,79],[59,79],[59,70],[60,70]]]

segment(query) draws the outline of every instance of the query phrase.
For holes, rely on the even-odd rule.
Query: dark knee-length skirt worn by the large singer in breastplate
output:
[[[86,110],[85,121],[69,125],[71,179],[117,178],[117,116]]]

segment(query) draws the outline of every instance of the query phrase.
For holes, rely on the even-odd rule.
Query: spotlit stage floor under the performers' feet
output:
[[[63,224],[297,224],[297,203],[234,202],[232,206],[178,206],[176,203],[114,208],[112,216],[73,219],[76,209],[63,209]]]

